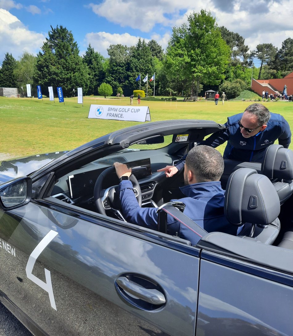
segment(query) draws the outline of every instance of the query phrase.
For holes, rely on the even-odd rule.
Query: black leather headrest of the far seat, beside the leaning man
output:
[[[282,145],[268,146],[261,163],[261,173],[270,180],[293,180],[293,151]]]

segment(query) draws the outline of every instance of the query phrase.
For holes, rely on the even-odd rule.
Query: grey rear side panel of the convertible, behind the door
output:
[[[247,249],[250,247],[248,242]],[[268,245],[263,248],[264,255],[281,250]],[[291,251],[282,252],[292,260]],[[254,257],[257,259],[257,254]],[[203,250],[196,335],[292,335],[292,297],[292,274]]]

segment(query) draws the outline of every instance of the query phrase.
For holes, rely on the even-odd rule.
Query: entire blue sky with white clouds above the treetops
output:
[[[6,52],[36,54],[50,26],[72,31],[82,55],[90,43],[107,57],[110,44],[131,46],[155,39],[165,49],[172,27],[192,11],[211,11],[219,26],[239,33],[251,50],[259,43],[280,48],[293,38],[293,6],[285,0],[0,0],[0,65]],[[257,66],[257,64],[256,64]]]

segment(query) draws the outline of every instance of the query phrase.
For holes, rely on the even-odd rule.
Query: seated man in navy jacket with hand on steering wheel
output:
[[[115,162],[119,184],[120,200],[124,218],[130,223],[157,228],[156,208],[141,208],[135,198],[132,183],[128,180],[131,168]],[[219,231],[237,234],[237,227],[229,224],[224,216],[224,191],[219,181],[224,170],[221,154],[206,145],[194,147],[184,164],[184,184],[180,190],[186,196],[179,202],[185,204],[184,214],[207,232]],[[193,229],[168,215],[168,234],[189,240],[192,245],[198,241]]]

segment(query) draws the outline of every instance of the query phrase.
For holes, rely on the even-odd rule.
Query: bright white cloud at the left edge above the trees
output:
[[[30,31],[20,20],[5,9],[0,8],[0,62],[6,52],[18,58],[24,51],[36,53],[45,36]]]

